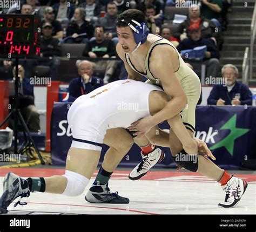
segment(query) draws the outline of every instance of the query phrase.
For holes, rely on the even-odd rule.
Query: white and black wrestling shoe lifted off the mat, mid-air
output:
[[[147,155],[144,155],[143,151],[140,152],[142,155],[142,162],[140,162],[129,174],[130,180],[139,180],[152,168],[156,163],[161,162],[165,154],[159,149],[155,148],[152,152]]]

